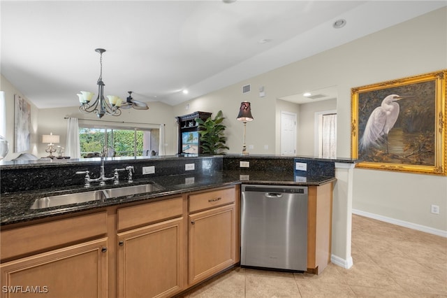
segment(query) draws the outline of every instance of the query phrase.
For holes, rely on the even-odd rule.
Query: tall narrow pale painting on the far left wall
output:
[[[31,143],[31,105],[14,95],[14,152],[28,151]]]

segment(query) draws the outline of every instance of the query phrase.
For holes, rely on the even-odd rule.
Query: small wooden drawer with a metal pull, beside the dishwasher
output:
[[[222,206],[235,201],[235,188],[225,188],[212,192],[191,194],[189,196],[189,212],[204,210],[207,208]]]

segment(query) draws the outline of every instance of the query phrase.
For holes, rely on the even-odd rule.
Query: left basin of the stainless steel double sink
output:
[[[108,194],[104,192],[104,190],[96,190],[94,192],[78,192],[75,194],[61,194],[58,196],[36,199],[34,204],[31,206],[31,209],[78,204],[86,201],[98,201],[106,198],[108,198]]]

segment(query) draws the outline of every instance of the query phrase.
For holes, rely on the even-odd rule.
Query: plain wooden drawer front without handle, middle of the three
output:
[[[163,201],[118,209],[118,230],[129,229],[149,222],[158,222],[183,215],[183,199],[176,197]]]

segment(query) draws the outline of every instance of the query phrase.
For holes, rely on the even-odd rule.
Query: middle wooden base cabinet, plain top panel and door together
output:
[[[118,297],[171,297],[183,290],[182,215],[182,197],[119,208],[119,229],[142,226],[117,234]]]

